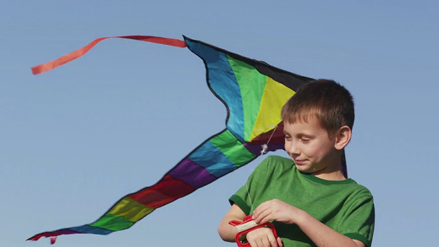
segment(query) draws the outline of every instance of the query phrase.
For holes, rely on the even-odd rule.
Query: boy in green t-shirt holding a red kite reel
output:
[[[246,185],[230,197],[232,207],[218,226],[224,241],[234,242],[230,220],[253,214],[270,228],[247,233],[252,247],[370,246],[375,226],[372,194],[346,178],[340,165],[352,136],[351,93],[333,80],[302,86],[283,106],[285,151],[289,158],[269,156]]]

